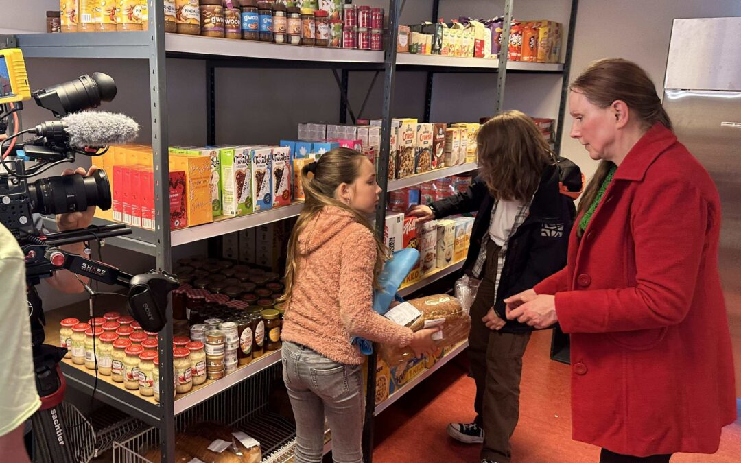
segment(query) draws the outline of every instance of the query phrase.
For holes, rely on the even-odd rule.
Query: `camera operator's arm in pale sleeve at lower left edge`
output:
[[[36,393],[31,353],[31,326],[26,302],[25,262],[21,248],[0,225],[0,298],[3,348],[0,349],[0,455],[4,462],[28,462],[24,422],[41,406]]]

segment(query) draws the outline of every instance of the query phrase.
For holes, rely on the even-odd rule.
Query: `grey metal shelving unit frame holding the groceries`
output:
[[[522,0],[521,0],[522,1]],[[362,50],[338,50],[322,49],[317,47],[297,47],[287,44],[267,44],[250,41],[232,41],[227,39],[212,39],[199,36],[182,36],[177,34],[165,34],[164,14],[162,4],[156,0],[147,0],[149,9],[148,30],[142,32],[116,32],[116,33],[73,33],[73,34],[26,34],[16,36],[18,46],[24,51],[24,56],[30,59],[43,58],[65,58],[65,59],[141,59],[147,60],[148,76],[150,81],[150,124],[152,126],[153,165],[155,169],[156,211],[157,228],[150,232],[147,230],[134,230],[131,236],[109,239],[109,244],[156,257],[156,267],[159,270],[171,270],[171,253],[174,246],[198,242],[204,239],[213,239],[225,233],[255,227],[260,224],[279,221],[298,215],[301,204],[292,204],[275,210],[255,213],[250,216],[239,218],[217,220],[212,224],[199,227],[187,228],[185,230],[171,231],[169,228],[170,204],[167,194],[162,194],[166,189],[169,169],[167,147],[167,87],[166,57],[180,59],[199,59],[206,61],[207,67],[207,144],[214,144],[216,134],[216,101],[215,101],[215,70],[219,67],[256,67],[256,68],[327,68],[335,71],[337,83],[342,93],[340,102],[340,121],[344,122],[349,109],[347,99],[348,72],[354,70],[376,71],[383,73],[383,101],[382,119],[384,128],[382,130],[382,149],[379,153],[379,184],[384,191],[398,190],[425,181],[431,181],[442,176],[455,175],[474,170],[476,164],[463,164],[461,166],[448,167],[433,173],[425,173],[408,179],[387,180],[388,169],[388,142],[391,135],[391,105],[393,102],[394,81],[396,71],[426,72],[428,74],[427,98],[425,99],[425,118],[429,121],[431,99],[433,93],[434,73],[496,73],[497,92],[496,101],[493,102],[496,113],[502,108],[505,90],[505,77],[508,72],[534,73],[534,74],[561,74],[563,76],[562,100],[559,107],[558,132],[562,127],[562,119],[565,114],[565,97],[568,93],[569,61],[571,61],[571,44],[574,41],[574,23],[576,20],[576,7],[578,0],[571,0],[571,19],[569,24],[568,39],[565,43],[566,64],[534,64],[509,62],[507,53],[502,54],[500,59],[469,59],[453,58],[444,56],[424,56],[409,53],[396,54],[396,34],[389,36],[385,52],[371,52]],[[514,0],[505,0],[504,36],[509,36],[509,24],[512,17]],[[403,7],[403,1],[389,0],[389,30],[396,30],[399,25],[399,16]],[[439,0],[433,1],[432,19],[436,21],[439,10]],[[342,70],[342,79],[336,73]],[[556,142],[556,149],[559,143]],[[385,195],[382,195],[379,204],[379,213],[376,223],[379,224],[378,233],[382,233],[382,213],[385,210]],[[47,221],[48,223],[48,221]],[[50,224],[51,226],[52,224]],[[453,264],[451,267],[439,270],[428,276],[422,282],[418,282],[401,290],[402,294],[410,294],[425,287],[438,279],[450,275],[459,270],[462,263]],[[168,319],[172,319],[171,307],[167,309]],[[172,323],[162,330],[159,336],[159,354],[162,364],[172,365]],[[443,361],[447,362],[454,355],[465,349],[465,344],[456,347],[446,356]],[[446,360],[447,359],[447,360]],[[263,359],[219,380],[202,387],[182,399],[174,400],[173,391],[170,388],[162,390],[162,403],[154,404],[147,400],[120,388],[113,387],[105,382],[98,382],[96,397],[103,402],[113,405],[119,410],[129,413],[138,419],[153,426],[153,432],[147,433],[150,444],[156,445],[162,450],[162,461],[172,462],[175,449],[176,424],[185,419],[195,418],[194,410],[219,410],[222,404],[216,401],[225,397],[233,396],[234,391],[246,391],[245,384],[253,380],[262,381],[263,374],[273,374],[279,369],[276,363],[279,361],[279,353],[271,353]],[[442,366],[445,362],[439,362]],[[375,364],[371,359],[370,364]],[[438,367],[439,367],[438,366]],[[91,393],[95,387],[95,378],[89,373],[79,370],[70,365],[63,365],[67,381],[86,393]],[[431,369],[407,384],[403,391],[411,390],[435,369]],[[173,380],[172,368],[160,370],[160,384],[170,384]],[[246,380],[246,381],[245,381]],[[375,385],[375,369],[369,370],[369,394],[368,416],[366,420],[365,461],[372,460],[372,421],[373,415],[380,413],[403,395],[394,394],[395,399],[384,402],[376,411],[373,397]],[[213,400],[212,400],[213,399]],[[259,409],[254,400],[242,401],[245,407]],[[254,402],[254,403],[253,403]],[[226,409],[225,409],[226,410]],[[251,410],[251,409],[250,409]],[[179,429],[179,428],[178,428]],[[285,441],[289,442],[289,441]],[[284,444],[282,444],[284,445]],[[122,447],[119,445],[119,448]]]

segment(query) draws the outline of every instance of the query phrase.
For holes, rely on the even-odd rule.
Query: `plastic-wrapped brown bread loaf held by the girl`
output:
[[[442,327],[433,337],[438,347],[453,346],[468,339],[468,332],[471,330],[468,312],[462,308],[458,299],[447,294],[411,299],[393,307],[385,316],[393,322],[410,327],[412,331]],[[392,368],[414,358],[413,350],[409,347],[381,344],[379,352],[384,362]]]

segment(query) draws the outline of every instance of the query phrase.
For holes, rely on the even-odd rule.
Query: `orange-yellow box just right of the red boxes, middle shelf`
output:
[[[171,156],[170,170],[185,172],[185,207],[188,227],[212,222],[211,159],[206,156]]]

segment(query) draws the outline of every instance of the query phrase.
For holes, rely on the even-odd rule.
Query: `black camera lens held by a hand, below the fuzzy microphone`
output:
[[[89,177],[76,173],[39,179],[28,185],[28,193],[33,213],[63,214],[91,206],[110,209],[110,183],[104,170]]]

